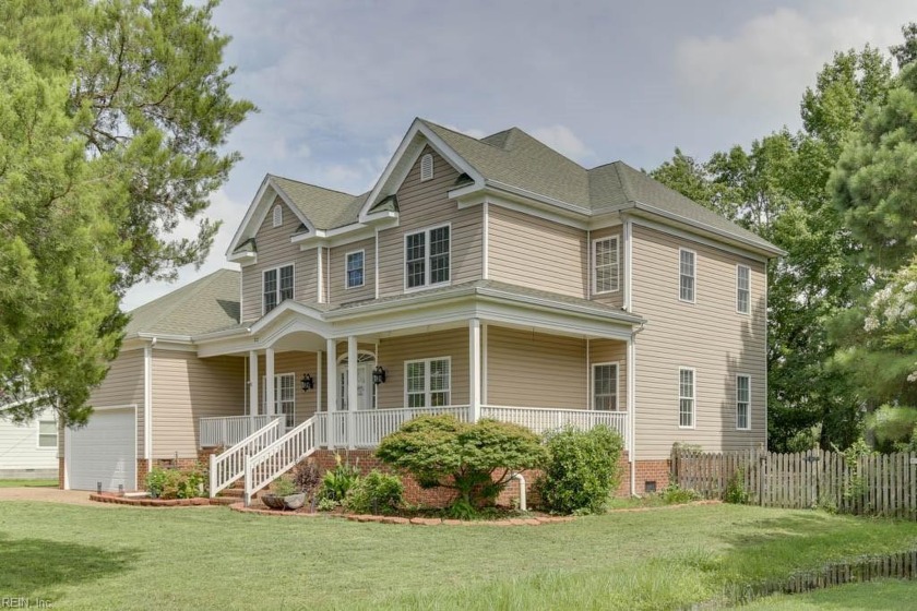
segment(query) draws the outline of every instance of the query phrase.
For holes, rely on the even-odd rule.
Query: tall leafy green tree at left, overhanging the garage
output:
[[[83,423],[117,354],[133,284],[206,257],[227,178],[228,93],[215,2],[0,3],[0,407]],[[196,221],[193,238],[172,238]],[[26,396],[37,402],[22,403]]]

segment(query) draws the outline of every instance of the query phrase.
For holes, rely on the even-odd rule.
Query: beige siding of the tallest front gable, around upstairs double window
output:
[[[458,209],[448,199],[455,188],[458,172],[427,146],[421,153],[433,155],[433,178],[420,182],[420,160],[407,173],[397,191],[398,226],[379,232],[379,295],[404,292],[404,240],[429,227],[450,224],[450,284],[480,279],[481,227],[480,206]],[[417,289],[413,289],[417,290]]]

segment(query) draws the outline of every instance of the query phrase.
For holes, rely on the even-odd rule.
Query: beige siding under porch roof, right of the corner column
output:
[[[586,340],[487,326],[487,404],[586,409]]]

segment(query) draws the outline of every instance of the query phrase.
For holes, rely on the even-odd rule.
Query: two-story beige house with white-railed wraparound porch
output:
[[[269,175],[227,252],[241,272],[133,312],[90,426],[61,440],[63,486],[133,489],[223,446],[216,488],[253,491],[449,412],[606,423],[640,493],[676,442],[765,442],[778,254],[620,161],[417,119],[368,193]]]

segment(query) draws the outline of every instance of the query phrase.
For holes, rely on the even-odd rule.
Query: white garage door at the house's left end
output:
[[[67,431],[67,475],[72,490],[136,489],[134,408],[97,409],[90,423]]]

